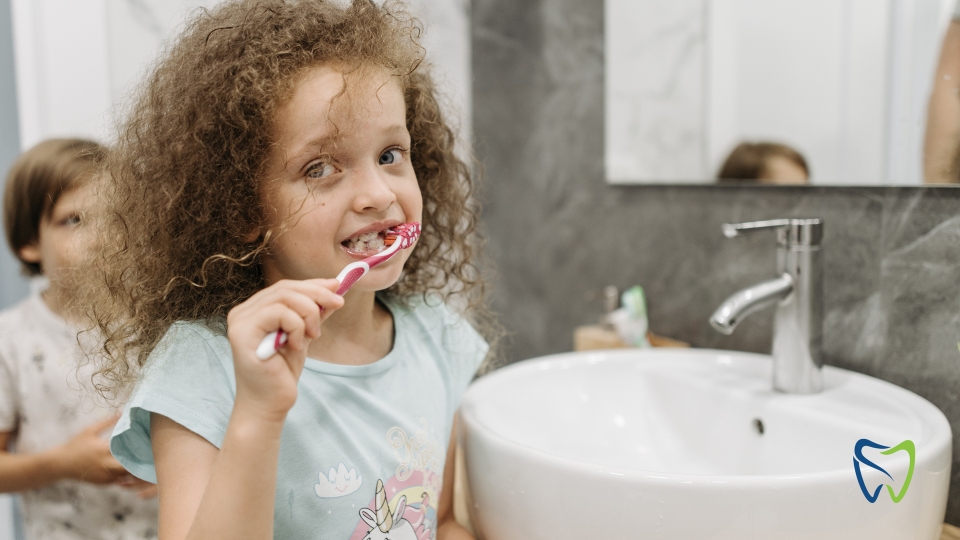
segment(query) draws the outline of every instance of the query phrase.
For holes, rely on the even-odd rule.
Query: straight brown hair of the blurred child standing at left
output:
[[[43,269],[21,258],[20,251],[39,239],[40,223],[50,217],[60,195],[93,176],[103,154],[103,147],[92,140],[51,138],[13,161],[4,192],[4,229],[27,276],[39,276]]]

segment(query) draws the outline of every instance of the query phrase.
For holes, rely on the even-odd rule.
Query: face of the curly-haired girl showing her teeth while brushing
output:
[[[264,258],[268,283],[336,277],[382,251],[388,228],[420,221],[406,104],[394,77],[313,68],[277,110],[275,134],[266,217],[268,227],[286,229]],[[411,251],[376,266],[353,289],[389,287]]]

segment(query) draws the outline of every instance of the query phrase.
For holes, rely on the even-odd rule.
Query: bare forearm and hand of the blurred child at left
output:
[[[66,443],[36,454],[7,452],[12,432],[0,432],[0,493],[36,489],[60,479],[103,484],[124,478],[127,471],[100,437],[113,424],[116,418],[92,424]]]

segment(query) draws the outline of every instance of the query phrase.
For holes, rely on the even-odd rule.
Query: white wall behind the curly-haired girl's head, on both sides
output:
[[[217,0],[12,0],[20,145],[50,136],[108,140],[111,107],[184,17]],[[446,81],[447,110],[469,133],[468,0],[414,0]]]

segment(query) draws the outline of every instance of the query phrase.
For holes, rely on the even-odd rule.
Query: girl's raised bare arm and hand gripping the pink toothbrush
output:
[[[297,401],[307,345],[320,335],[323,320],[343,306],[333,292],[338,284],[276,282],[230,310],[237,386],[219,450],[173,420],[151,415],[160,540],[273,538],[280,431]],[[277,328],[287,332],[286,346],[257,359],[256,346]]]

